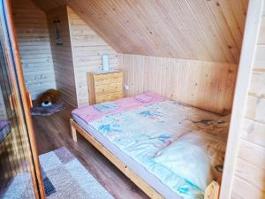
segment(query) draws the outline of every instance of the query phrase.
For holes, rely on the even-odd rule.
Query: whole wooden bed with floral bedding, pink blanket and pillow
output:
[[[203,198],[221,178],[228,117],[155,93],[72,111],[83,135],[151,198]]]

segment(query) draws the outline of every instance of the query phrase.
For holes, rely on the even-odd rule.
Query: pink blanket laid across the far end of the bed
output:
[[[100,112],[97,111],[93,107],[93,105],[90,105],[79,109],[75,109],[72,111],[72,114],[77,115],[80,119],[83,119],[88,124],[90,121],[93,121],[95,119],[100,119],[105,115],[135,109],[142,105],[157,103],[163,100],[164,100],[163,96],[159,96],[153,92],[148,92],[141,94],[139,96],[131,96],[114,101],[113,103],[115,103],[118,107],[117,110],[115,111]]]

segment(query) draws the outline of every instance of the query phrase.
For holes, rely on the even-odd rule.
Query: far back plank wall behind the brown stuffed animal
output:
[[[26,86],[35,99],[56,88],[47,16],[31,0],[11,0]]]

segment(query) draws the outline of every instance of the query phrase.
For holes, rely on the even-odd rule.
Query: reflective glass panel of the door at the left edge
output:
[[[0,198],[35,198],[33,157],[4,35],[0,23]]]

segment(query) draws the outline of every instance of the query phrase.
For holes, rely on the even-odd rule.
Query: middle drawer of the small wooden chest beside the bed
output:
[[[123,90],[122,82],[95,85],[95,94],[96,94],[96,96],[109,94],[109,93],[114,93],[114,92],[122,91],[122,90]]]

